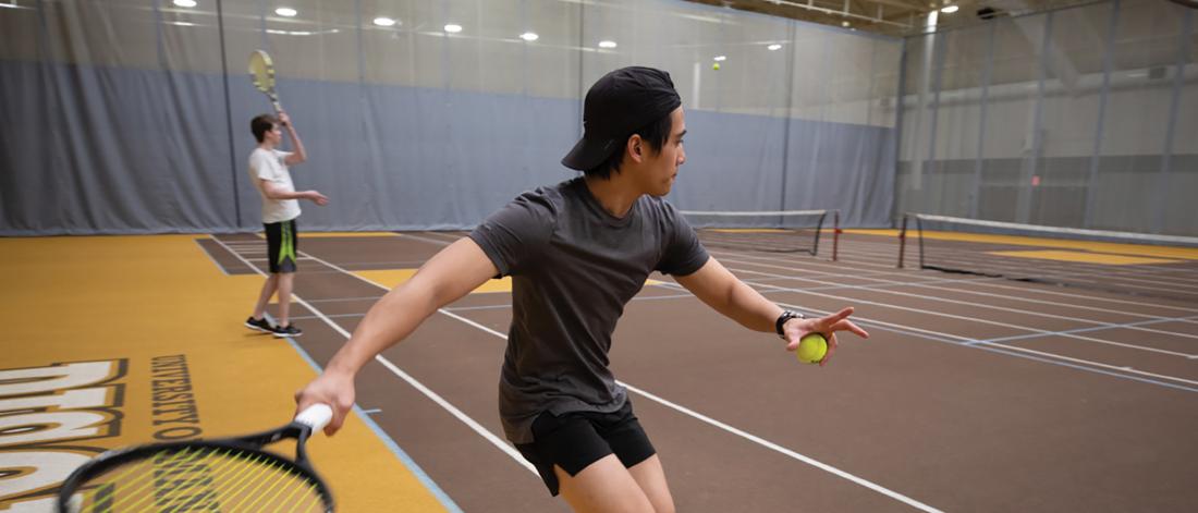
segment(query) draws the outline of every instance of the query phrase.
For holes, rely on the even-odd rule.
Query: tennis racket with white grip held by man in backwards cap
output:
[[[333,417],[309,406],[284,427],[249,436],[108,451],[67,477],[58,513],[333,512],[333,495],[308,464],[304,442]],[[264,451],[296,440],[295,459]]]

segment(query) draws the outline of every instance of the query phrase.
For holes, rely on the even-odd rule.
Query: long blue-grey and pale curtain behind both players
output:
[[[558,161],[582,97],[630,65],[668,71],[683,96],[679,207],[840,209],[858,227],[894,210],[897,38],[673,0],[12,5],[0,235],[260,229],[254,49],[309,153],[297,188],[332,199],[302,204],[304,229],[464,229],[575,176]]]

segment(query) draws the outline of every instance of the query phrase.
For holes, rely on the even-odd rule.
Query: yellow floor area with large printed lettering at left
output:
[[[224,274],[196,237],[0,239],[0,460],[23,469],[0,476],[0,511],[48,511],[66,473],[108,448],[291,418],[315,370],[242,325],[262,278]],[[393,511],[395,490],[405,511],[446,509],[357,415],[309,448],[340,511]]]

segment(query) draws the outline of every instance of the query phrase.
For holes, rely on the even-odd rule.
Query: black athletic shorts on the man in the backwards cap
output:
[[[633,415],[633,403],[611,414],[575,411],[540,414],[532,423],[532,443],[516,443],[520,454],[537,467],[553,496],[558,493],[553,465],[577,476],[592,463],[615,453],[624,467],[649,459],[657,451]]]

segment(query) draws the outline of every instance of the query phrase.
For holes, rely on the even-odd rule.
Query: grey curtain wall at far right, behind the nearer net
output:
[[[897,211],[1198,235],[1196,18],[1119,0],[909,38]]]

